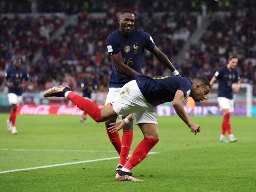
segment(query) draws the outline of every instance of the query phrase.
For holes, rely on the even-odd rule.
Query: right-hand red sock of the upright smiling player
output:
[[[131,144],[133,142],[133,130],[123,130],[121,154],[119,164],[124,165],[129,155]]]

